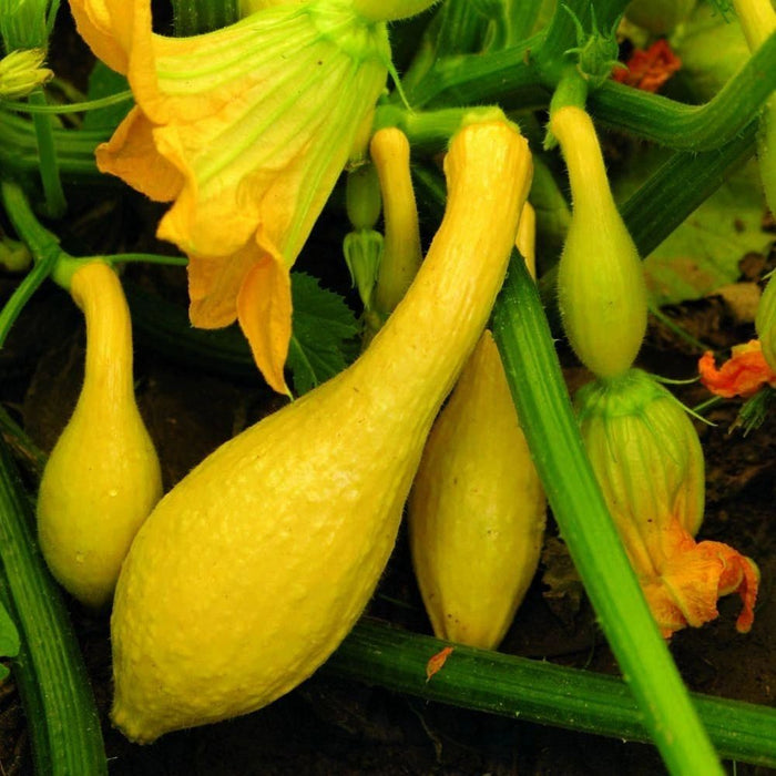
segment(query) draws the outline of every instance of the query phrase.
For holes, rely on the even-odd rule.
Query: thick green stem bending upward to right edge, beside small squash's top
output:
[[[684,151],[707,151],[731,142],[776,89],[776,33],[704,105],[685,105],[607,81],[589,106],[604,126]]]

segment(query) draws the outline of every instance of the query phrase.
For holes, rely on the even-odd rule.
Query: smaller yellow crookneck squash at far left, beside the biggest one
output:
[[[86,319],[86,368],[43,472],[38,537],[54,578],[99,609],[110,602],[130,544],[162,497],[162,476],[135,404],[121,283],[106,264],[93,262],[73,275],[71,293]]]

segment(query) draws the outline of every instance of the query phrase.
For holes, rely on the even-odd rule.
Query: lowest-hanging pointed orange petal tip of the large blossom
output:
[[[283,374],[292,334],[290,276],[277,257],[265,255],[245,276],[237,318],[264,379],[290,396]]]

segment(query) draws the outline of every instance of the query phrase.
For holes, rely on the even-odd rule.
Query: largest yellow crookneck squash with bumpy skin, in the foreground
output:
[[[255,711],[309,676],[368,602],[426,436],[482,333],[531,178],[525,140],[471,123],[426,262],[347,370],[206,458],[122,569],[113,721],[137,742]]]

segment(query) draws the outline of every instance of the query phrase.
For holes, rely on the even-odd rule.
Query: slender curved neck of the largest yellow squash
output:
[[[530,187],[531,155],[514,127],[472,124],[455,137],[445,171],[441,226],[407,295],[353,369],[402,413],[417,405],[436,412],[486,326]]]

